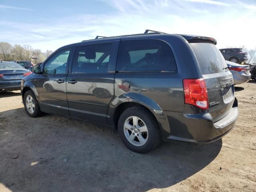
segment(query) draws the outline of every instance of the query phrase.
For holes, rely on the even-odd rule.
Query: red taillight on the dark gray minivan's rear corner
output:
[[[208,109],[208,94],[203,78],[183,79],[185,104],[194,105],[200,109]]]

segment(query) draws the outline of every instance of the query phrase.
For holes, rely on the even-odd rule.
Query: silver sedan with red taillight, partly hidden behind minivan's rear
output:
[[[249,65],[240,65],[230,61],[226,61],[226,63],[233,75],[235,85],[246,83],[250,80],[251,74]]]

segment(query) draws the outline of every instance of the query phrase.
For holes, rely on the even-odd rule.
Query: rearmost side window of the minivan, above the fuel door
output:
[[[160,40],[124,40],[120,42],[116,70],[120,72],[176,71],[176,62],[168,44]]]

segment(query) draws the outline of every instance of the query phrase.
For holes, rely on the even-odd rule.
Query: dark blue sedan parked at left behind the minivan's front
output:
[[[30,70],[14,62],[0,62],[0,92],[20,90],[21,80],[31,74]]]

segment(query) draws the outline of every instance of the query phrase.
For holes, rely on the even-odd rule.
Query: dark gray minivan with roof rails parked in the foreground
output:
[[[232,74],[216,43],[146,30],[64,46],[22,80],[26,113],[117,128],[138,153],[161,140],[213,142],[238,117]]]

